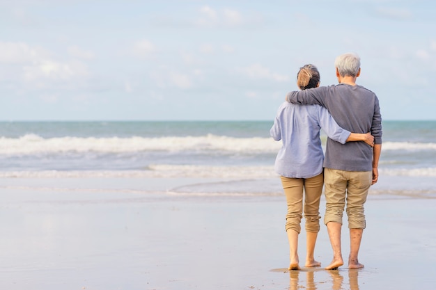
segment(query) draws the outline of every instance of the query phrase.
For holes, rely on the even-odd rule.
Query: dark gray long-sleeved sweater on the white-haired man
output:
[[[338,84],[289,92],[288,102],[325,106],[343,129],[371,132],[374,143],[382,143],[382,115],[377,96],[363,86]],[[373,170],[373,149],[363,141],[338,143],[327,139],[324,167],[345,171]]]

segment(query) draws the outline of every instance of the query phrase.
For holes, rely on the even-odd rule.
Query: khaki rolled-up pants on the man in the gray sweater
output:
[[[325,168],[324,223],[342,224],[346,202],[348,228],[364,229],[366,220],[364,204],[373,179],[372,171],[344,171]]]

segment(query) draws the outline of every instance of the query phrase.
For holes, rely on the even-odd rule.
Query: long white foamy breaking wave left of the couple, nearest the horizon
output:
[[[0,138],[0,154],[35,154],[53,152],[143,152],[143,151],[224,151],[275,153],[281,143],[272,138],[233,138],[226,136],[186,136],[144,138],[42,138],[27,134],[20,138]]]

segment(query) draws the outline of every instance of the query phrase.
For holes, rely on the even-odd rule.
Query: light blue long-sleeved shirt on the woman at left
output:
[[[339,127],[322,106],[281,104],[270,129],[272,138],[282,143],[274,166],[279,175],[310,178],[322,172],[321,128],[329,138],[342,144],[350,136],[350,131]]]

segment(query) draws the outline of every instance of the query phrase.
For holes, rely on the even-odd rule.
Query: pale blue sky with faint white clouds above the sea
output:
[[[273,120],[336,56],[383,120],[436,120],[436,2],[0,0],[0,120]]]

